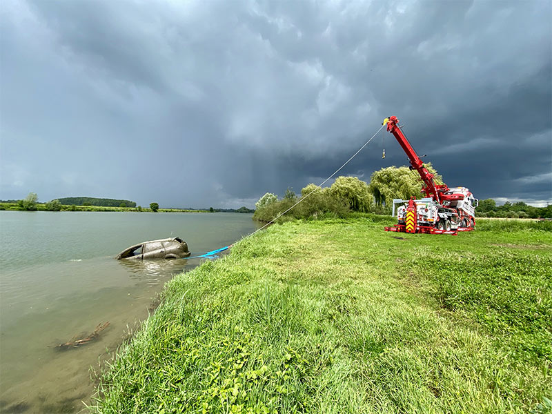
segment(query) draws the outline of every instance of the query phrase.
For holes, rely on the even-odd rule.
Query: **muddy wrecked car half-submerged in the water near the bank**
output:
[[[179,237],[168,239],[150,240],[130,246],[119,253],[119,259],[183,259],[190,256],[188,244]]]

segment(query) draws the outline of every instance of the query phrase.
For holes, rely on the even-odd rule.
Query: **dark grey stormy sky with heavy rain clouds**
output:
[[[449,186],[552,203],[550,1],[0,6],[0,199],[252,207],[397,115]],[[407,165],[382,132],[344,170]]]

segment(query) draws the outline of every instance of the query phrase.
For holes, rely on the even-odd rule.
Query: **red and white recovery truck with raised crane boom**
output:
[[[416,170],[422,178],[422,193],[426,198],[419,200],[393,200],[403,203],[397,208],[398,223],[386,227],[386,231],[403,233],[429,233],[457,235],[459,231],[473,230],[475,227],[475,207],[478,200],[466,187],[449,188],[446,184],[435,184],[433,174],[428,171],[414,148],[402,132],[397,117],[384,119],[387,131],[391,132],[406,152],[410,169]]]

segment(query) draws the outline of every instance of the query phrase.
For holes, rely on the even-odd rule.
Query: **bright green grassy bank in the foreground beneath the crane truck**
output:
[[[168,283],[92,411],[540,412],[552,233],[478,223],[453,237],[296,221],[239,242]]]

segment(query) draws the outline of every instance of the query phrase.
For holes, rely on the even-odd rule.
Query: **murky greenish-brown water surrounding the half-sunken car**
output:
[[[237,213],[0,211],[0,411],[81,411],[92,371],[139,327],[164,283],[206,260],[115,260],[126,247],[172,235],[195,255],[258,227]],[[57,347],[105,322],[92,342]]]

